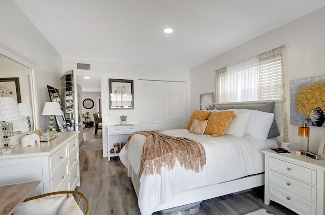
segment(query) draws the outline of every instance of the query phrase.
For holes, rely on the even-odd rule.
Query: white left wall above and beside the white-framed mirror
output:
[[[0,41],[36,64],[35,77],[42,130],[48,129],[48,116],[42,116],[50,101],[47,85],[60,89],[62,57],[12,0],[0,2]]]

